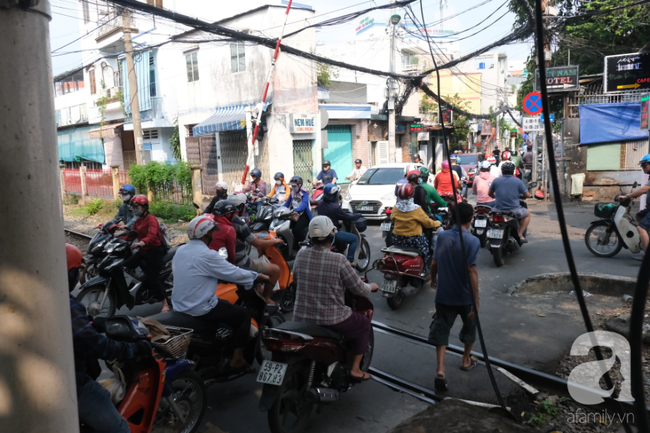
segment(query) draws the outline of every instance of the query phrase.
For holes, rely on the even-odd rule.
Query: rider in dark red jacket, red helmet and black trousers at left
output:
[[[136,195],[131,199],[133,212],[138,217],[133,224],[133,230],[137,233],[138,242],[131,244],[131,249],[139,248],[131,257],[124,261],[123,266],[127,269],[135,269],[138,266],[147,275],[145,284],[149,287],[152,299],[155,297],[163,304],[162,312],[169,311],[165,289],[158,281],[162,270],[162,260],[165,256],[165,247],[162,244],[160,224],[158,219],[149,212],[149,200],[147,196]],[[134,240],[129,234],[127,240]]]

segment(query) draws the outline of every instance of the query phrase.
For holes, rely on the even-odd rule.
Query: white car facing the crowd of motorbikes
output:
[[[343,197],[342,207],[360,213],[369,220],[382,220],[387,207],[395,206],[395,185],[410,170],[419,170],[422,164],[394,163],[371,167],[353,182]]]

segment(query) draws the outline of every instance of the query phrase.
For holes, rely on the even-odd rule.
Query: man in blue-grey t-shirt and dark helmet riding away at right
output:
[[[530,223],[530,210],[522,207],[519,203],[519,197],[530,197],[528,188],[521,181],[513,176],[515,172],[515,165],[512,162],[507,162],[501,167],[503,175],[492,181],[488,195],[495,200],[493,210],[508,211],[517,217],[519,220],[519,239],[522,244],[528,242],[524,238],[524,232]]]

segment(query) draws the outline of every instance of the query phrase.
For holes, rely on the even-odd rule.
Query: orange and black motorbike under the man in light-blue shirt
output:
[[[236,284],[219,282],[215,293],[219,299],[225,299],[251,312],[250,339],[244,348],[246,362],[252,365],[257,360],[262,364],[264,359],[270,359],[270,353],[260,347],[262,334],[259,331],[265,329],[267,325],[275,327],[284,323],[284,316],[278,311],[278,307],[266,305],[255,288],[244,290]],[[196,372],[205,381],[206,386],[234,380],[246,374],[242,372],[233,375],[229,369],[229,360],[232,358],[234,347],[232,328],[228,325],[206,322],[176,311],[159,313],[151,318],[167,327],[193,329],[187,358],[196,363]]]

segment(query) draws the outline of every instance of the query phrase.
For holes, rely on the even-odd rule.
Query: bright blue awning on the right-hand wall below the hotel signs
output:
[[[641,129],[641,103],[583,104],[580,110],[580,145],[648,138]]]

